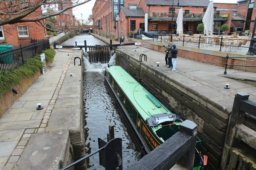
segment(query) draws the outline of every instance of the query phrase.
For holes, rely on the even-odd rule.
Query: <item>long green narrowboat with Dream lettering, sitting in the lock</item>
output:
[[[183,122],[122,67],[112,65],[105,70],[105,84],[122,116],[147,154],[179,131]],[[201,169],[201,140],[197,138],[194,168]]]

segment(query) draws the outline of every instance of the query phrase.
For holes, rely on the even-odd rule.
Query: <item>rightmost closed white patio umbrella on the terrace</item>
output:
[[[203,17],[203,23],[204,23],[204,34],[207,36],[212,35],[212,27],[213,27],[213,1],[210,1],[204,17]]]

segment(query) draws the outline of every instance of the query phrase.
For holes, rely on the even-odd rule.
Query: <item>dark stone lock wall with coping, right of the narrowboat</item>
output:
[[[127,51],[118,50],[116,53],[116,64],[121,65],[137,81],[139,63]],[[202,153],[208,156],[207,167],[211,170],[220,169],[233,99],[213,97],[216,92],[209,87],[202,87],[200,83],[195,86],[195,81],[181,74],[161,73],[157,68],[147,65],[147,62],[142,62],[141,68],[141,84],[173,113],[198,125],[198,136],[203,140]]]

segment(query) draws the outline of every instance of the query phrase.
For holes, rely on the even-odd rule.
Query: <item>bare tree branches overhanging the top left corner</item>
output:
[[[65,3],[65,0],[0,0],[0,26],[6,24],[40,22],[46,18],[59,15],[67,9],[80,6],[90,0],[71,0],[70,6],[56,13],[42,15],[42,9],[57,8],[58,4]],[[38,14],[40,12],[40,14]],[[34,15],[34,17],[27,16]],[[36,16],[36,17],[35,17]]]

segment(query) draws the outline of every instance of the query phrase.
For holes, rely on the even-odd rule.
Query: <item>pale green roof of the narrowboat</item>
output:
[[[115,65],[107,69],[144,120],[161,113],[172,114],[122,67]]]

